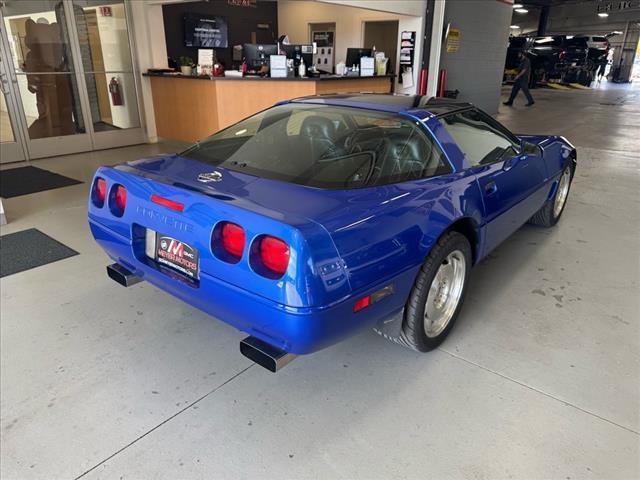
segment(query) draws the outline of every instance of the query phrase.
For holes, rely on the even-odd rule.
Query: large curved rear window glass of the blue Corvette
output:
[[[295,103],[249,117],[181,155],[318,188],[370,187],[451,171],[440,148],[410,119]]]

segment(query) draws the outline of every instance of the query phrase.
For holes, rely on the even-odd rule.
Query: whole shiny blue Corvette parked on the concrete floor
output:
[[[396,95],[283,102],[177,155],[95,175],[89,225],[115,262],[249,334],[277,371],[363,327],[435,348],[471,267],[553,226],[576,150],[470,104]]]

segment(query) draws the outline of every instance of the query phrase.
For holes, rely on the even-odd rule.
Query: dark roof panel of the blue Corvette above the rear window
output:
[[[426,95],[401,95],[393,93],[351,93],[316,95],[291,100],[293,103],[311,103],[355,107],[391,113],[424,112],[434,116],[446,115],[473,105],[450,98],[428,97]]]

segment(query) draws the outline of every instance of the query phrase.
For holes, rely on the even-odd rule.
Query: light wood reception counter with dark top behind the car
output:
[[[144,74],[151,81],[159,137],[195,142],[275,103],[328,93],[390,93],[392,75],[260,78]]]

